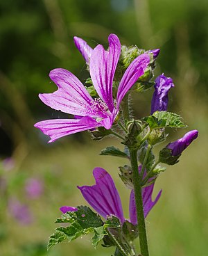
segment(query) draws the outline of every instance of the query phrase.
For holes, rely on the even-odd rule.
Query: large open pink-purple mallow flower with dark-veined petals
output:
[[[110,129],[119,113],[119,105],[125,94],[144,74],[150,62],[148,54],[141,54],[130,64],[119,83],[116,101],[112,97],[112,83],[116,65],[121,54],[119,38],[111,34],[108,38],[109,50],[97,45],[92,51],[89,62],[89,72],[99,98],[93,99],[85,86],[71,72],[58,68],[49,74],[58,90],[54,93],[40,94],[39,97],[52,109],[80,115],[80,119],[54,119],[37,122],[35,127],[51,137],[50,142],[75,134],[79,131],[105,127]],[[80,49],[83,48],[80,47]],[[86,57],[87,58],[87,57]]]

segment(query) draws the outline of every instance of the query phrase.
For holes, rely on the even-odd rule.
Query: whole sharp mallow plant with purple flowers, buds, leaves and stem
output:
[[[161,74],[154,80],[159,49],[145,51],[136,46],[121,46],[114,34],[108,41],[107,50],[102,45],[92,49],[85,40],[74,37],[75,45],[87,64],[91,89],[68,70],[52,70],[49,77],[58,90],[39,97],[47,106],[74,115],[74,118],[43,120],[35,127],[51,138],[49,143],[85,130],[91,131],[95,139],[109,134],[120,138],[125,145],[123,151],[107,147],[101,154],[130,161],[131,166],[120,167],[120,177],[131,189],[129,219],[123,214],[121,198],[110,174],[103,168],[94,168],[96,184],[78,186],[78,189],[98,214],[85,207],[61,207],[63,215],[57,223],[69,223],[69,227],[56,229],[49,240],[49,248],[64,239],[71,241],[94,232],[94,246],[103,239],[105,246],[116,246],[115,255],[138,255],[132,241],[139,236],[141,255],[148,256],[144,219],[162,193],[159,191],[152,200],[155,180],[165,170],[159,163],[177,163],[182,152],[197,138],[198,131],[189,131],[177,141],[168,143],[155,157],[152,149],[166,141],[166,128],[186,127],[180,115],[168,112],[168,92],[174,87],[173,79]],[[135,120],[129,109],[128,95],[144,92],[153,86],[150,115]],[[39,190],[28,191],[36,194]],[[132,234],[132,230],[137,230],[137,235]]]

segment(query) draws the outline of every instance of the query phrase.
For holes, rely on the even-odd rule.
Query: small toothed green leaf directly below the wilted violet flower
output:
[[[155,111],[153,115],[143,118],[148,123],[151,129],[172,127],[182,128],[187,127],[184,122],[181,121],[181,116],[168,111]]]

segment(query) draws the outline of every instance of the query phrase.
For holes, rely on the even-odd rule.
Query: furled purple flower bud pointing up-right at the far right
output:
[[[179,156],[197,137],[197,130],[189,131],[182,138],[172,143],[169,143],[166,147],[171,150],[172,156]]]

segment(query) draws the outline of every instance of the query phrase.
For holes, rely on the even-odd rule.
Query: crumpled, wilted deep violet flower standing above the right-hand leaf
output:
[[[155,111],[166,111],[168,108],[168,91],[174,87],[171,77],[161,74],[155,79],[155,92],[153,93],[151,114]]]

